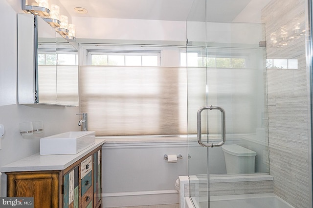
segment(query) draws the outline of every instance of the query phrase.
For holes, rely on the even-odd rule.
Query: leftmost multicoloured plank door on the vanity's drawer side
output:
[[[64,195],[63,208],[78,208],[79,206],[79,168],[75,167],[63,176]]]

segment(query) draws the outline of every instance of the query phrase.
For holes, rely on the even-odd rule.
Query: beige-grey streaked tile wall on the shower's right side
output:
[[[309,207],[308,92],[304,36],[287,45],[271,43],[281,29],[293,33],[294,22],[305,29],[306,0],[272,0],[262,10],[267,58],[298,59],[298,69],[267,69],[269,171],[274,193],[296,208]],[[278,40],[279,41],[279,40]]]

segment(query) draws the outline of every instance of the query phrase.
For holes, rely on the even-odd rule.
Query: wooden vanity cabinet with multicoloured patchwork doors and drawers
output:
[[[101,146],[65,170],[6,172],[8,197],[34,197],[34,208],[101,208]]]

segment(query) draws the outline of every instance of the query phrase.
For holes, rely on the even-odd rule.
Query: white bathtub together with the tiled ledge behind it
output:
[[[267,173],[211,175],[210,208],[294,208],[273,194],[272,182]],[[179,176],[180,208],[207,208],[206,187],[206,175]]]

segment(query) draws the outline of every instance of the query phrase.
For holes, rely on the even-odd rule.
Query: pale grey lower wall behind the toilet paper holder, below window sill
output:
[[[268,172],[265,143],[257,135],[226,135],[227,144],[239,144],[257,152],[255,170]],[[246,137],[246,138],[245,138]],[[201,147],[197,138],[107,137],[102,146],[103,207],[130,207],[178,203],[175,182],[179,176],[207,174],[209,152],[211,174],[225,174],[221,147]],[[181,154],[177,163],[167,163],[164,154]],[[189,159],[188,159],[189,157]]]

